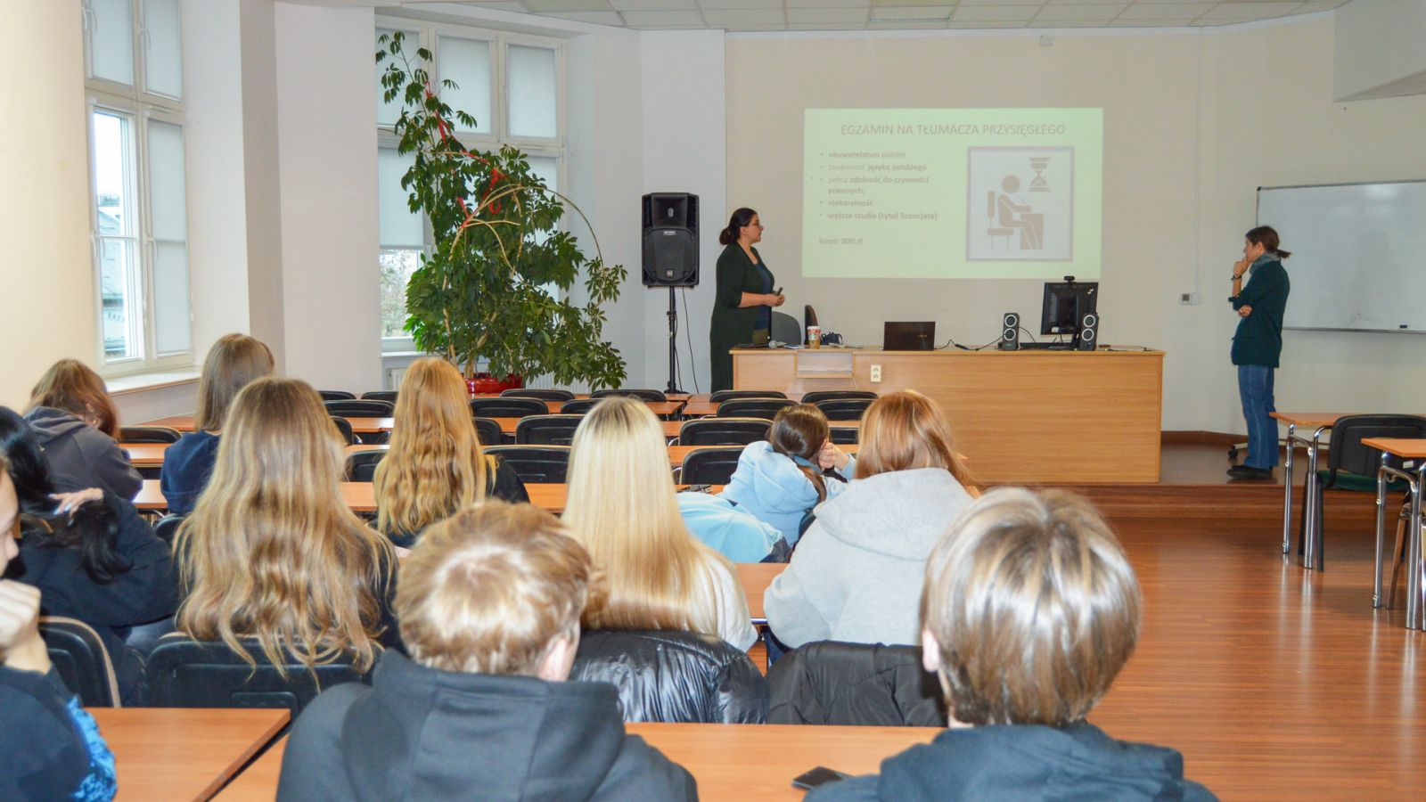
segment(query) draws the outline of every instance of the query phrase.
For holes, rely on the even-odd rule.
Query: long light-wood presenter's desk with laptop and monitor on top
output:
[[[734,350],[733,387],[917,390],[981,481],[1159,481],[1164,351]]]

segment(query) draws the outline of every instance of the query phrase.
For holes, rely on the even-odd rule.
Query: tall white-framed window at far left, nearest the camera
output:
[[[103,372],[193,364],[178,0],[84,0]]]

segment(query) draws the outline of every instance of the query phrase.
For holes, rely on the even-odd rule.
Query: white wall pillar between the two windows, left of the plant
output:
[[[324,390],[375,390],[375,19],[371,9],[278,3],[275,23],[287,374]]]

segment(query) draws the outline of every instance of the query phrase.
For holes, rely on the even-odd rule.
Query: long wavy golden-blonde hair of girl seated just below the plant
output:
[[[411,362],[396,395],[391,450],[376,465],[376,528],[419,532],[485,501],[495,460],[481,451],[465,380],[451,362]]]

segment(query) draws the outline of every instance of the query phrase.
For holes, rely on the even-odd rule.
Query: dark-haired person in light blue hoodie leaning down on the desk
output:
[[[777,412],[769,440],[743,450],[722,495],[743,512],[776,527],[793,545],[803,515],[846,489],[846,482],[824,475],[831,468],[850,479],[857,462],[831,442],[821,410],[797,404]]]

